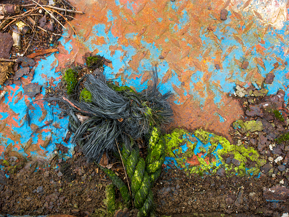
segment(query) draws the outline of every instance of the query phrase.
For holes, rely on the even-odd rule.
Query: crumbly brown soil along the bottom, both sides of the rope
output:
[[[120,163],[113,169],[123,177]],[[111,181],[96,164],[87,163],[81,153],[76,152],[67,161],[52,161],[50,167],[28,162],[9,178],[1,172],[1,214],[105,216],[105,186]],[[165,169],[152,189],[155,214],[282,216],[289,212],[288,201],[269,202],[263,197],[263,187],[273,185],[276,180],[265,174],[260,178],[228,178]],[[116,200],[121,201],[118,190]],[[131,216],[137,214],[134,209],[128,212]]]

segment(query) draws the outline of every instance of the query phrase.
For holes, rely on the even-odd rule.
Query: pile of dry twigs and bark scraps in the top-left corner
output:
[[[67,1],[0,4],[0,85],[6,80],[6,84],[26,85],[19,78],[29,73],[32,73],[29,76],[31,81],[33,71],[30,68],[25,73],[17,70],[21,70],[21,66],[34,66],[32,58],[39,59],[45,54],[57,52],[58,39],[63,36],[63,28],[66,28],[64,23],[70,25],[69,21],[75,13],[82,14]]]

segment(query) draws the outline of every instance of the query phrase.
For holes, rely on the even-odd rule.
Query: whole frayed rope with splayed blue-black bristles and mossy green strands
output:
[[[69,116],[68,130],[73,133],[71,143],[81,146],[87,161],[95,161],[102,166],[121,191],[126,206],[129,205],[125,198],[132,198],[132,204],[139,209],[138,216],[149,216],[153,208],[151,187],[160,175],[165,159],[165,139],[160,129],[172,120],[169,102],[172,93],[159,92],[156,66],[151,73],[152,86],[137,93],[130,87],[119,87],[107,80],[100,73],[103,72],[104,61],[101,56],[88,57],[87,69],[93,73],[86,73],[79,80],[77,77],[84,73],[85,68],[66,69],[63,76],[66,89],[58,97],[44,100],[61,103],[61,110]],[[28,125],[29,110],[34,102],[27,108]],[[140,148],[146,145],[147,156],[140,156]],[[131,180],[131,194],[124,182],[108,169],[111,168],[109,156],[120,158],[123,162]],[[146,157],[145,160],[143,157]],[[108,204],[114,203],[108,201]],[[113,211],[109,210],[109,213]]]

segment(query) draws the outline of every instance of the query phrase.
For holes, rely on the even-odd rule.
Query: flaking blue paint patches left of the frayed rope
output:
[[[58,78],[60,76],[60,72],[55,71],[55,67],[58,65],[58,61],[55,58],[54,54],[48,56],[46,60],[42,59],[38,62],[38,66],[34,68],[34,78],[32,82],[37,83],[43,87],[47,87],[47,80],[43,75],[46,75],[48,80],[52,78]],[[53,84],[57,85],[57,83],[60,82],[60,80],[55,80]],[[6,122],[6,126],[10,127],[13,134],[19,135],[20,142],[22,146],[19,144],[18,141],[13,141],[12,139],[8,138],[7,135],[1,134],[1,145],[4,146],[4,148],[8,148],[8,146],[14,147],[12,150],[17,151],[19,154],[21,154],[23,157],[32,157],[32,158],[42,158],[42,159],[51,159],[54,156],[54,151],[56,149],[55,143],[62,144],[69,148],[69,151],[67,154],[63,155],[64,159],[67,159],[72,156],[73,152],[73,146],[72,144],[64,143],[63,140],[66,137],[67,131],[67,124],[68,120],[66,118],[58,117],[57,115],[57,108],[58,106],[54,106],[53,113],[51,113],[51,107],[47,105],[45,102],[37,102],[33,104],[35,107],[35,110],[31,110],[30,115],[32,117],[31,123],[35,124],[36,126],[43,126],[46,124],[47,121],[53,118],[54,116],[54,124],[59,124],[60,128],[56,128],[53,125],[47,126],[41,130],[40,135],[42,136],[42,139],[50,139],[51,141],[47,145],[46,148],[39,146],[37,147],[37,150],[30,150],[25,152],[25,148],[27,145],[27,142],[29,139],[32,139],[32,144],[37,144],[38,141],[38,133],[32,135],[32,130],[27,124],[25,123],[25,112],[27,105],[25,103],[25,97],[23,97],[22,100],[19,100],[17,103],[15,103],[16,95],[19,92],[24,93],[22,85],[17,89],[18,86],[15,84],[11,85],[11,93],[5,95],[5,103],[9,105],[10,109],[14,111],[16,114],[18,114],[18,118],[13,118],[15,121],[15,124]],[[45,95],[45,88],[42,87],[42,94]],[[8,97],[11,97],[12,100],[10,101]],[[32,102],[35,98],[27,98],[29,102]],[[44,119],[41,119],[42,115],[42,109],[46,108],[48,113]],[[1,118],[2,123],[5,122],[5,119],[10,116],[9,113],[1,113],[3,116]],[[48,132],[45,132],[48,131]],[[37,146],[37,145],[36,145]],[[16,148],[17,147],[17,148]],[[4,152],[1,153],[0,159],[4,158]]]

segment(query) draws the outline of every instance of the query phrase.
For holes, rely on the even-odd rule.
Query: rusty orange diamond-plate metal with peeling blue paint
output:
[[[229,96],[236,85],[264,85],[268,94],[283,89],[288,100],[286,1],[71,3],[86,13],[76,15],[71,22],[78,34],[79,49],[76,36],[66,25],[64,35],[69,38],[60,39],[58,54],[36,63],[33,83],[57,85],[61,68],[70,61],[84,63],[83,56],[91,52],[112,61],[105,67],[109,79],[141,91],[147,87],[152,64],[157,64],[161,90],[175,94],[175,121],[170,128],[202,127],[229,140],[230,125],[243,115],[236,98]],[[221,19],[222,9],[228,14],[222,14]],[[275,75],[272,84],[263,83],[268,73]],[[27,80],[25,76],[21,79]],[[63,144],[67,120],[55,116],[57,127],[44,128],[31,139],[31,129],[24,124],[24,110],[34,98],[24,94],[22,85],[3,89],[8,93],[0,101],[1,158],[53,157],[55,143]],[[37,99],[45,95],[43,87],[41,94]],[[51,119],[51,114],[45,115],[44,111],[39,111],[44,120],[34,119],[36,126]],[[68,154],[64,154],[68,157],[73,148],[69,143],[63,145],[69,147]]]

